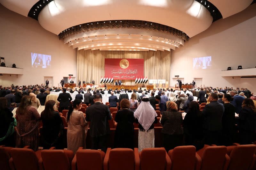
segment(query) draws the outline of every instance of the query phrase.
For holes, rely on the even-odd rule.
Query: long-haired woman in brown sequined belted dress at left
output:
[[[16,147],[22,148],[26,145],[34,151],[38,150],[39,119],[37,109],[32,105],[30,96],[25,95],[20,101],[16,110],[17,128],[20,135],[17,135]]]

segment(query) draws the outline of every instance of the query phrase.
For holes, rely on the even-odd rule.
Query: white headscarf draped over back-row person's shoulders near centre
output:
[[[147,98],[147,97],[143,97]],[[134,112],[134,117],[138,119],[141,126],[148,130],[157,116],[155,109],[150,105],[149,101],[141,101],[139,107]]]

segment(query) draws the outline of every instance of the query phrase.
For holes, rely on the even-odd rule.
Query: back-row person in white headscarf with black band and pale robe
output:
[[[134,112],[135,122],[139,123],[139,152],[144,148],[155,147],[155,132],[153,123],[157,123],[157,114],[150,105],[149,98],[144,97]]]

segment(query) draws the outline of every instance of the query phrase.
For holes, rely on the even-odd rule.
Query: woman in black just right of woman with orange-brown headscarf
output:
[[[194,145],[196,150],[204,147],[203,120],[199,104],[196,101],[191,101],[183,121],[185,145]]]

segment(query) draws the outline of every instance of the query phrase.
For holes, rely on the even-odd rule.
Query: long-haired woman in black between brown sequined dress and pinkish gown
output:
[[[61,120],[57,105],[54,100],[49,100],[45,104],[44,111],[41,113],[43,122],[42,143],[44,149],[54,146],[56,149],[63,149],[63,122]]]

